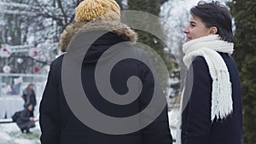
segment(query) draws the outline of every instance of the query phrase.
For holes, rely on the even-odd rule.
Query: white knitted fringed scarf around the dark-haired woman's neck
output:
[[[183,44],[183,52],[185,54],[183,61],[188,68],[196,56],[203,56],[207,61],[212,78],[212,122],[214,118],[226,118],[233,110],[230,73],[223,58],[218,54],[218,52],[223,52],[231,55],[234,50],[233,48],[234,43],[225,42],[218,35],[196,38]],[[182,117],[181,113],[183,110],[183,94],[181,100],[180,117]],[[181,119],[179,119],[179,126],[182,124]],[[181,136],[180,132],[181,130],[177,130],[177,133],[179,133],[177,136]],[[177,137],[177,140],[179,138]]]

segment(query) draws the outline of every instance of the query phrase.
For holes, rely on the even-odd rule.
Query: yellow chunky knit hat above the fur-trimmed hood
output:
[[[120,20],[119,4],[114,0],[84,0],[75,9],[75,21]]]

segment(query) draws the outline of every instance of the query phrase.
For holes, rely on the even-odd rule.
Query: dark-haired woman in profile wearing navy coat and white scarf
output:
[[[231,58],[234,37],[229,10],[218,2],[190,9],[183,32],[189,71],[183,91],[183,144],[241,144],[241,82]]]

